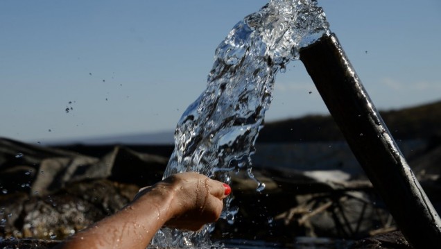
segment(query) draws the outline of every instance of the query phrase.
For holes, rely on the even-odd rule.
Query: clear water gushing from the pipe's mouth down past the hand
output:
[[[273,0],[236,24],[216,49],[207,89],[194,101],[175,130],[175,151],[164,178],[196,171],[230,183],[230,172],[250,178],[250,156],[272,96],[275,75],[297,60],[299,50],[329,35],[325,12],[311,0]],[[257,191],[264,184],[257,182]],[[234,221],[231,196],[223,218]],[[210,247],[206,225],[200,232],[162,229],[153,246]]]

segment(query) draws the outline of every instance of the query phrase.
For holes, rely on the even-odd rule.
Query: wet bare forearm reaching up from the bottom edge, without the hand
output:
[[[148,193],[55,248],[146,248],[171,218],[170,198]]]

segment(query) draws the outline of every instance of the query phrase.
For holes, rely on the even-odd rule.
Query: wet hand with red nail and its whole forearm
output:
[[[217,221],[227,184],[194,172],[178,173],[145,187],[116,214],[78,232],[55,248],[141,248],[163,225],[197,231]]]

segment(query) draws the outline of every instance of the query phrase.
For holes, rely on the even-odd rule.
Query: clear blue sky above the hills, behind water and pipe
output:
[[[174,130],[218,44],[266,2],[1,0],[0,137]],[[441,1],[318,3],[378,109],[441,100]],[[273,96],[266,121],[327,114],[300,62]]]

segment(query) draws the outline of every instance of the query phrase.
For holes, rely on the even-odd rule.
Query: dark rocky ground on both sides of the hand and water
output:
[[[433,139],[409,148],[409,163],[438,211],[440,145]],[[295,158],[286,159],[297,162],[291,167],[280,158],[271,160],[276,145],[258,146],[257,151],[266,153],[254,158],[253,173],[265,182],[266,189],[257,192],[257,182],[243,172],[232,173],[232,206],[239,212],[232,225],[218,221],[212,239],[268,241],[300,248],[295,246],[296,238],[315,237],[356,241],[350,243],[352,248],[410,248],[343,147],[336,151],[345,156],[332,152],[334,157],[329,154],[327,160],[332,164],[309,169]],[[309,151],[321,150],[320,155],[325,155],[328,144],[308,146]],[[168,161],[164,150],[170,150],[151,153],[130,146],[106,148],[107,152],[101,148],[94,156],[0,139],[0,248],[49,248],[116,212],[139,187],[162,178]],[[285,145],[283,149],[290,148]]]

